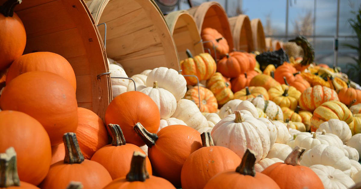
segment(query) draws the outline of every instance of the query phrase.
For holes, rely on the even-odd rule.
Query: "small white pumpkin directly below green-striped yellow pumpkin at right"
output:
[[[332,133],[338,136],[342,142],[345,144],[351,138],[351,130],[346,122],[338,119],[330,119],[329,121],[323,122],[319,125],[319,128],[316,132],[322,132],[323,130],[326,133]]]

